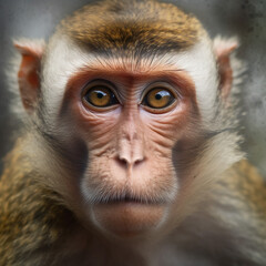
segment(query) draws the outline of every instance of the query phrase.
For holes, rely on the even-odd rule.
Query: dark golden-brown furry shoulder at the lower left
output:
[[[18,147],[4,163],[0,178],[0,265],[49,265],[45,250],[62,241],[62,228],[71,227],[73,216],[54,192],[38,182],[38,173],[30,170],[30,162]]]

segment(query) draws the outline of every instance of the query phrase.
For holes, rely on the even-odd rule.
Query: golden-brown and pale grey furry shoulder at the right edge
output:
[[[198,232],[205,242],[211,239],[212,254],[223,262],[218,265],[265,265],[266,182],[248,161],[239,161],[221,176],[204,209],[204,215],[198,214]],[[213,242],[215,237],[218,242]]]

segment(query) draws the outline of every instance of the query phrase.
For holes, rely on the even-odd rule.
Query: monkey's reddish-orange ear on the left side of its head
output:
[[[31,113],[40,93],[39,73],[44,51],[44,41],[14,41],[13,45],[21,54],[18,82],[22,104],[25,111]]]

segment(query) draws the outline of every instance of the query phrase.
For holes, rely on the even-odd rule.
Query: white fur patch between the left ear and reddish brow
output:
[[[68,37],[55,34],[51,39],[44,60],[44,79],[41,84],[47,112],[51,120],[57,117],[69,79],[91,62],[91,54],[74,44]]]

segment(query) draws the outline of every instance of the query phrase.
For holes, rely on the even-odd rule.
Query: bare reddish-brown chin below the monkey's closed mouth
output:
[[[121,202],[94,205],[92,212],[94,223],[101,229],[129,238],[146,235],[158,228],[166,211],[160,204]]]

